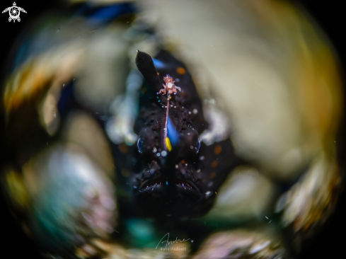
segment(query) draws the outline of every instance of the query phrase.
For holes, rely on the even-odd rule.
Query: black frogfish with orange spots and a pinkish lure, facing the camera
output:
[[[229,138],[209,146],[200,142],[209,124],[185,65],[163,50],[154,61],[157,69],[149,54],[137,53],[145,79],[134,123],[139,139],[126,154],[115,156],[119,175],[132,188],[135,213],[200,217],[238,159]]]

